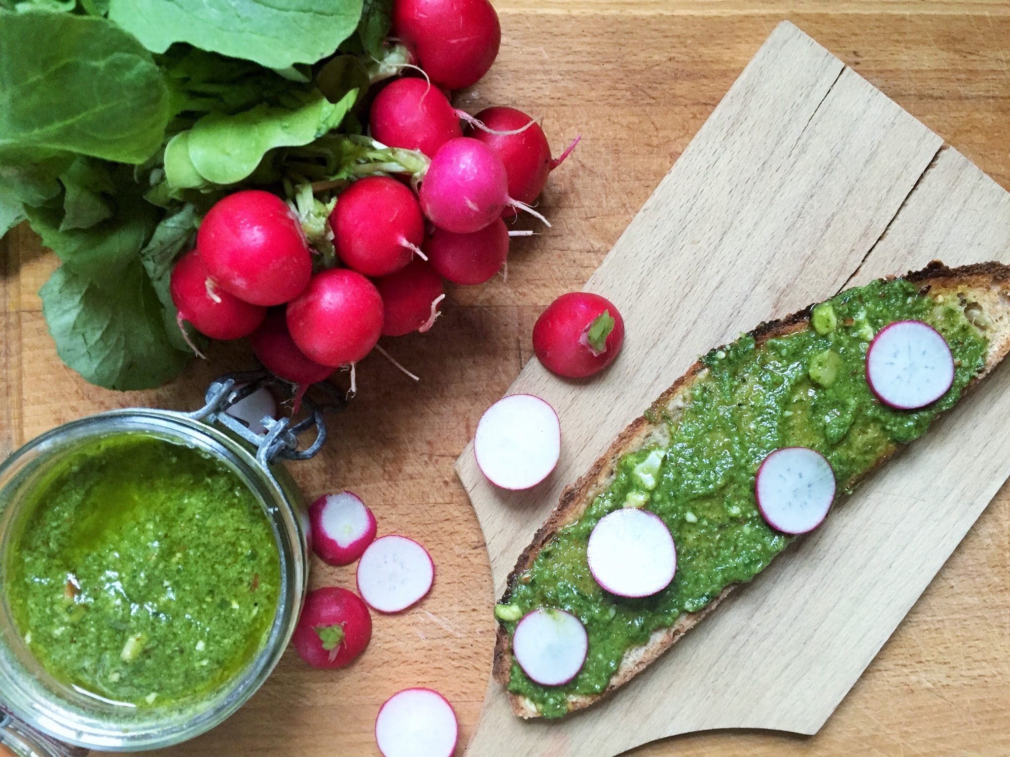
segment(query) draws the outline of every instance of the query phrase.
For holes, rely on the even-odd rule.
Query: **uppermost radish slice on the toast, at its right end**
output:
[[[939,400],[953,384],[946,339],[922,321],[898,321],[867,350],[867,383],[885,405],[915,410]]]

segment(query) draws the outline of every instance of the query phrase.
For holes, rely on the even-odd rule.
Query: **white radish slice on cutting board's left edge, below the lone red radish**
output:
[[[529,489],[542,481],[562,449],[558,414],[533,395],[504,397],[481,416],[474,454],[481,471],[502,489]]]

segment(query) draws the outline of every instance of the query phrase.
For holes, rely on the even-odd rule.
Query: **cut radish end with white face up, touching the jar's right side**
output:
[[[376,538],[376,517],[350,492],[323,495],[309,508],[312,549],[330,565],[349,565]]]

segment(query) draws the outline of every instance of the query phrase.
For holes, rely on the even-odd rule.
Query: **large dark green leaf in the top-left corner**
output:
[[[0,11],[0,163],[65,152],[143,163],[169,94],[150,53],[104,18]]]

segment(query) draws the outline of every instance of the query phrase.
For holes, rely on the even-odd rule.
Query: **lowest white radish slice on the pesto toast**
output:
[[[564,610],[534,610],[512,634],[516,662],[541,686],[561,686],[575,678],[588,651],[586,627]]]

